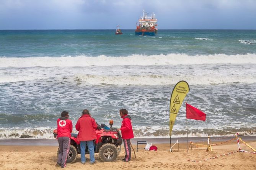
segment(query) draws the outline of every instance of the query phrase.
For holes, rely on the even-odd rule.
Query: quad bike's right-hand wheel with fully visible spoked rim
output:
[[[101,159],[102,162],[115,161],[117,155],[118,149],[114,144],[107,143],[99,148],[99,159]]]

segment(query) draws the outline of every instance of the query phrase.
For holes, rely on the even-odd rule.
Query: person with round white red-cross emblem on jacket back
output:
[[[73,130],[72,121],[68,119],[68,112],[63,111],[57,120],[57,138],[59,143],[59,157],[57,166],[66,167],[67,155],[70,147],[70,137]]]

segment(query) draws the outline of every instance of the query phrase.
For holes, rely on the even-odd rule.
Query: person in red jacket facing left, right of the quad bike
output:
[[[122,159],[122,161],[129,162],[131,157],[130,139],[134,138],[132,131],[132,119],[130,115],[128,115],[128,111],[126,109],[121,109],[119,113],[123,121],[121,128],[117,130],[121,130],[122,138],[124,141],[124,150],[126,151],[126,156],[124,157],[124,159]]]

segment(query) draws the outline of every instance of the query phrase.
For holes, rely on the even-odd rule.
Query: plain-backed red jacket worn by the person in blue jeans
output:
[[[91,141],[96,139],[95,129],[97,124],[90,115],[84,114],[78,120],[75,128],[79,131],[77,135],[78,141]]]

